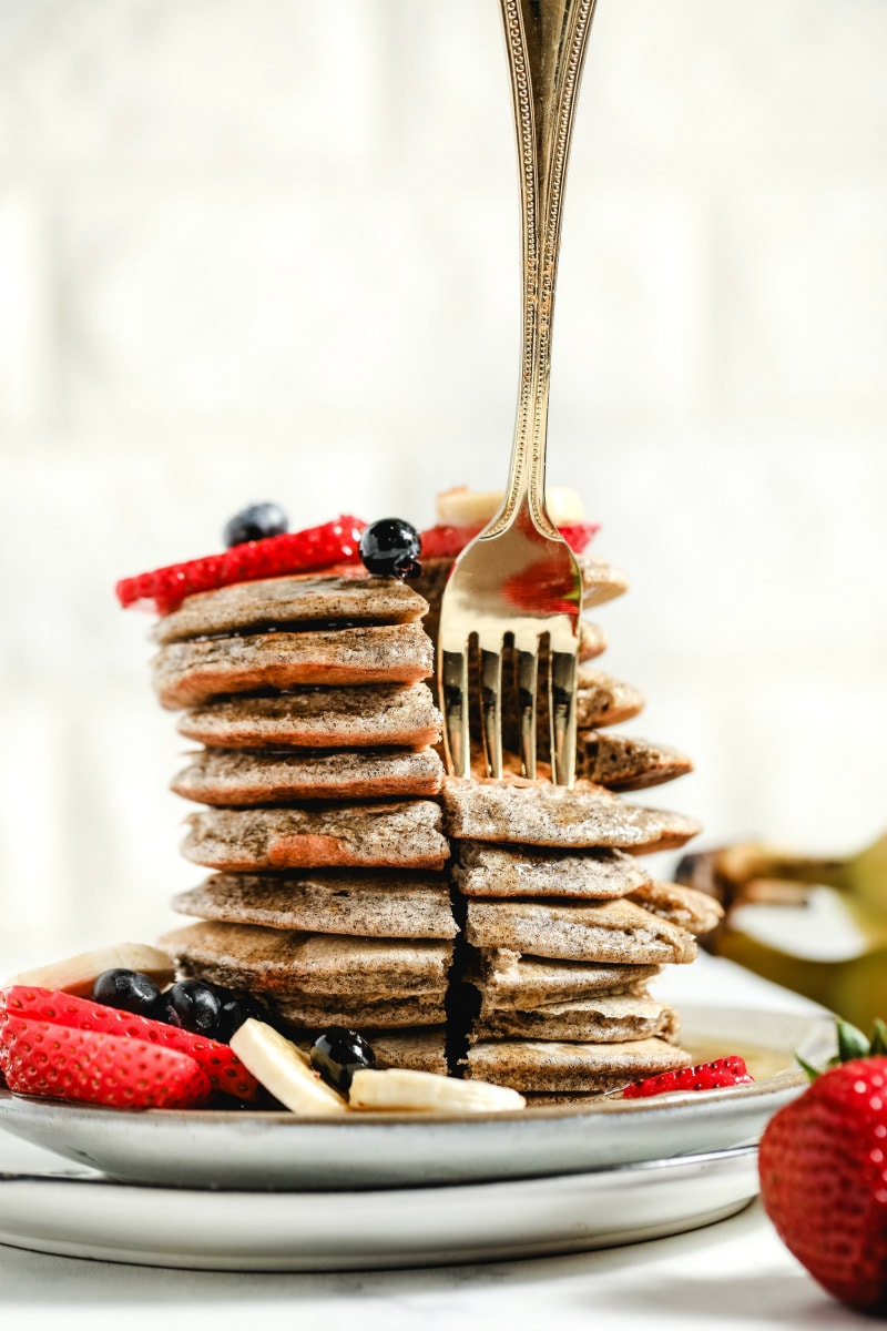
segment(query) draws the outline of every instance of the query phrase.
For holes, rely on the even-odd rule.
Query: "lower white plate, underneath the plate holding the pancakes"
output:
[[[104,1262],[342,1271],[511,1260],[699,1229],[758,1190],[757,1147],[590,1174],[379,1193],[209,1193],[1,1175],[0,1243]]]

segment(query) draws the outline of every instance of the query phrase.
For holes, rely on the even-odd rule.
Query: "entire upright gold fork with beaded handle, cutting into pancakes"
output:
[[[440,611],[438,672],[455,776],[471,776],[468,663],[476,638],[488,775],[503,775],[503,652],[513,646],[521,768],[536,776],[539,663],[547,646],[552,780],[574,780],[581,578],[545,507],[545,442],[564,182],[594,3],[500,0],[520,168],[521,375],[503,506],[456,560]]]

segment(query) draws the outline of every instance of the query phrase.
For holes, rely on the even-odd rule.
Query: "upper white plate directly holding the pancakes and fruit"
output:
[[[166,1187],[354,1193],[545,1178],[754,1143],[806,1085],[793,1070],[793,1051],[817,1062],[834,1047],[834,1025],[819,1016],[686,1006],[682,1029],[698,1057],[745,1053],[759,1079],[648,1101],[594,1099],[580,1109],[327,1119],[133,1113],[0,1091],[0,1126],[113,1178]]]

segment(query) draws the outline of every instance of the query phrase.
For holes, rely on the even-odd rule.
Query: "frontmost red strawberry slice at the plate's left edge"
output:
[[[7,1014],[5,1075],[20,1095],[52,1095],[113,1109],[195,1109],[211,1095],[193,1058],[126,1036]]]

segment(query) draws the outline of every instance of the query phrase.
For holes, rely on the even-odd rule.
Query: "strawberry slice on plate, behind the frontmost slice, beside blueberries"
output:
[[[259,1083],[253,1073],[246,1070],[233,1049],[217,1040],[194,1036],[189,1030],[180,1030],[178,1026],[168,1026],[162,1021],[138,1017],[118,1008],[105,1008],[89,998],[77,998],[74,994],[51,989],[35,989],[31,985],[0,989],[0,1070],[4,1066],[5,1024],[12,1017],[27,1017],[53,1026],[100,1032],[160,1045],[188,1054],[209,1078],[214,1090],[226,1091],[238,1099],[255,1099],[259,1091]]]

